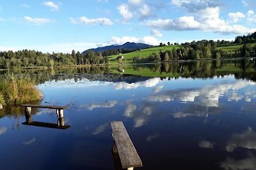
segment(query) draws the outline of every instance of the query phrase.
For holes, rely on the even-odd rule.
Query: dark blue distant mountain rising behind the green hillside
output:
[[[147,45],[147,44],[144,44],[144,43],[130,43],[130,42],[127,42],[127,43],[124,43],[123,45],[108,45],[108,46],[102,46],[102,47],[98,47],[98,48],[91,48],[91,49],[88,49],[88,50],[92,50],[93,52],[104,52],[104,51],[107,51],[107,50],[117,50],[117,49],[126,49],[126,50],[132,50],[132,49],[145,49],[145,48],[148,48],[148,47],[152,47],[152,45]],[[86,51],[88,50],[85,50],[83,52],[84,55],[86,55]]]

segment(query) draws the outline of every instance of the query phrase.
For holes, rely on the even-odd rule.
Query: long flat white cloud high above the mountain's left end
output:
[[[73,24],[85,24],[85,25],[113,25],[113,22],[109,20],[109,18],[87,18],[87,17],[80,17],[80,18],[72,18],[70,20]]]

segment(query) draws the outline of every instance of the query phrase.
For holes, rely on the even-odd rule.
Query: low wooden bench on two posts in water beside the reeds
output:
[[[36,105],[36,104],[21,104],[20,106],[25,107],[26,114],[31,114],[31,108],[47,108],[47,109],[55,109],[56,114],[59,118],[64,117],[63,110],[68,108],[68,106],[49,106],[49,105]]]

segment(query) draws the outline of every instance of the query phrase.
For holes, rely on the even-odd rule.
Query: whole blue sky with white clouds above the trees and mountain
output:
[[[1,0],[0,27],[0,51],[71,53],[127,41],[231,41],[256,31],[256,1]]]

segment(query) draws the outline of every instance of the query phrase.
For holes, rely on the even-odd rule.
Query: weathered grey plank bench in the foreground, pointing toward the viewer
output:
[[[132,170],[134,167],[141,167],[141,159],[132,144],[123,122],[111,122],[112,136],[115,140],[113,153],[118,153],[122,168]]]

